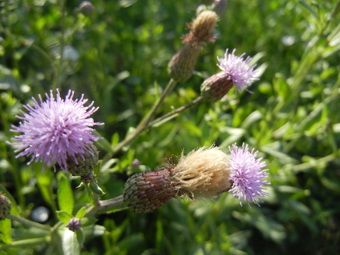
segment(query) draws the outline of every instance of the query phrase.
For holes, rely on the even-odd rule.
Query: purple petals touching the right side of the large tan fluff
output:
[[[230,160],[232,170],[231,180],[234,181],[229,192],[233,192],[234,197],[238,196],[241,206],[241,200],[245,200],[249,207],[251,207],[249,201],[253,201],[260,206],[258,201],[263,201],[259,197],[269,195],[263,191],[265,188],[262,185],[271,184],[270,181],[263,180],[269,175],[268,169],[262,170],[262,168],[267,166],[266,162],[261,162],[262,157],[255,159],[258,151],[254,152],[253,149],[249,152],[248,145],[244,146],[244,143],[242,148],[238,148],[236,143],[234,143],[233,150],[229,146],[229,151],[232,158]]]

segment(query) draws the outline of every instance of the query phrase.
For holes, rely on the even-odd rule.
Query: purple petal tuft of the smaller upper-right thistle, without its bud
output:
[[[228,49],[225,51],[224,58],[217,57],[220,65],[217,66],[224,71],[227,80],[231,80],[236,87],[236,91],[246,90],[250,93],[251,91],[247,90],[246,87],[250,86],[254,81],[259,80],[256,76],[256,70],[254,70],[255,66],[249,67],[248,63],[252,59],[251,57],[247,57],[243,60],[243,56],[245,53],[240,55],[239,57],[234,54],[236,49],[233,52],[228,54]]]

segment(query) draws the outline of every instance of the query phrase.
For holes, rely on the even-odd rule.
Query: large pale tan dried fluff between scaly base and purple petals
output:
[[[231,187],[230,157],[218,147],[202,147],[182,154],[169,179],[179,195],[214,197]]]

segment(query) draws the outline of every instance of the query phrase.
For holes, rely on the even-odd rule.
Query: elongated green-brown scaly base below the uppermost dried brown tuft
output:
[[[185,42],[169,62],[168,73],[170,77],[178,83],[186,82],[192,75],[200,51],[200,42]]]

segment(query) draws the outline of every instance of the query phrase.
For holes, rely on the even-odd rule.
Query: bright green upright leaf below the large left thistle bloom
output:
[[[58,189],[58,204],[62,211],[67,211],[72,214],[74,198],[68,178],[64,173],[60,174],[59,189]]]

